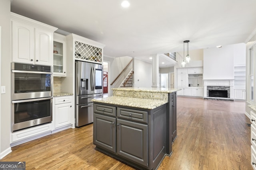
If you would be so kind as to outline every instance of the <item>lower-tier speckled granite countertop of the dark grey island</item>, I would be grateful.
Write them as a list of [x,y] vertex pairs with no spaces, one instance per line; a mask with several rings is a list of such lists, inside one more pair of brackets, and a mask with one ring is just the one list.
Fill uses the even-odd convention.
[[154,109],[156,107],[162,106],[163,104],[167,103],[164,100],[127,98],[127,97],[118,97],[118,96],[110,96],[107,98],[97,98],[97,99],[92,99],[91,101],[105,103],[105,104],[138,107],[138,108],[144,108],[144,109]]

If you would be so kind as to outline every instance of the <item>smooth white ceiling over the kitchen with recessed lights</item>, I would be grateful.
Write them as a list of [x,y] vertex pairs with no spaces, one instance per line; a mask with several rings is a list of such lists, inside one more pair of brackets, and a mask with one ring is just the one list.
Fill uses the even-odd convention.
[[147,62],[183,52],[184,40],[190,50],[244,43],[256,28],[256,0],[128,1],[11,0],[11,11],[103,43],[104,55]]

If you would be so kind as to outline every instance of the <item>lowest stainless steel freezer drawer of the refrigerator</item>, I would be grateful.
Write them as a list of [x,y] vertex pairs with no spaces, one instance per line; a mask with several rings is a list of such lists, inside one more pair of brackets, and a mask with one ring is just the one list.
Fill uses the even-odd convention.
[[76,127],[93,122],[93,103],[76,105]]

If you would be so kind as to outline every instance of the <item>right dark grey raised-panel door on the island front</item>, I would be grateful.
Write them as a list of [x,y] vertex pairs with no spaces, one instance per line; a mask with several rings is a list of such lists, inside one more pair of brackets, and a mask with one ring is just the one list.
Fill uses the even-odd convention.
[[148,167],[148,125],[117,119],[117,154]]

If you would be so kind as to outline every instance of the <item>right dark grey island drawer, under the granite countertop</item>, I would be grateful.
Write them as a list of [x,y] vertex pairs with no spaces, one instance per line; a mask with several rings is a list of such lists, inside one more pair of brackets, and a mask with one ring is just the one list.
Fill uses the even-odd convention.
[[148,123],[147,111],[117,107],[117,116],[120,118],[128,119],[130,121]]

